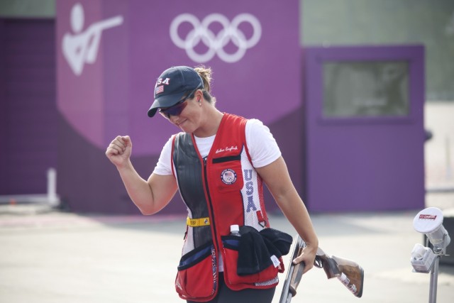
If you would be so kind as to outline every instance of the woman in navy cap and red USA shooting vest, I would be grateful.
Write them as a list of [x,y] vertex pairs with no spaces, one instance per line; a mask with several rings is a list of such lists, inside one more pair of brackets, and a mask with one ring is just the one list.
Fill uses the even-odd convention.
[[[182,299],[271,302],[285,252],[270,244],[283,238],[269,228],[262,182],[306,241],[294,260],[305,263],[305,272],[319,242],[270,130],[256,119],[218,111],[210,82],[211,70],[204,67],[171,67],[157,79],[148,116],[159,111],[182,132],[167,141],[148,180],[134,170],[128,136],[117,136],[106,156],[143,214],[160,211],[179,189],[188,210],[175,281]],[[236,225],[240,238],[230,236]]]

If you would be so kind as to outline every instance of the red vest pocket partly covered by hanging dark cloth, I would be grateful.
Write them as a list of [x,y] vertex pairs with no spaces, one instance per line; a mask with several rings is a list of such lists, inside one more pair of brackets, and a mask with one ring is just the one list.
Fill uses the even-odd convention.
[[277,272],[279,272],[279,266],[270,265],[265,270],[257,272],[252,275],[238,275],[238,248],[239,248],[239,238],[237,236],[223,236],[222,244],[224,250],[224,277],[231,284],[240,284],[240,283],[261,283],[267,282],[277,277]]

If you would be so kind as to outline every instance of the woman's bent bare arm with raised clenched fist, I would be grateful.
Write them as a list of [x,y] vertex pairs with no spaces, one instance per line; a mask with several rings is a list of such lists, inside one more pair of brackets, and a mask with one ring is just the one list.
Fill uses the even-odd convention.
[[144,180],[131,162],[133,144],[129,136],[117,136],[106,150],[106,156],[116,166],[129,197],[142,214],[155,214],[166,206],[177,192],[173,175],[152,174]]

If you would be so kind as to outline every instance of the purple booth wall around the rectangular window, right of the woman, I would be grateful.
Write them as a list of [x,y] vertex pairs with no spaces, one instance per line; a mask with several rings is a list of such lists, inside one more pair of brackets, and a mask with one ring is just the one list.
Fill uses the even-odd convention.
[[[390,211],[423,207],[423,47],[305,48],[304,57],[307,136],[305,192],[310,209]],[[396,115],[374,116],[378,110],[376,108],[372,116],[323,115],[323,101],[327,98],[323,89],[323,64],[326,62],[406,62],[409,67],[409,85],[402,86],[404,89],[401,93],[408,96],[408,113],[399,114],[397,111]],[[395,75],[388,70],[380,77]],[[377,92],[375,97],[383,98],[382,92]],[[397,102],[394,99],[387,100],[394,101],[394,104]],[[341,92],[338,92],[336,101],[341,102]],[[365,101],[364,98],[362,101]],[[369,100],[369,104],[372,101]]]

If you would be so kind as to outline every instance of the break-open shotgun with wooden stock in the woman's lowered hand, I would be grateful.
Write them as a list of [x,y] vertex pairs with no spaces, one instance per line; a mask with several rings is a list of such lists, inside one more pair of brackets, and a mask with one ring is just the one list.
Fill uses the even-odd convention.
[[[297,287],[303,275],[304,263],[295,265],[292,263],[292,260],[297,258],[304,246],[304,241],[297,235],[279,303],[289,303],[292,300],[292,297],[297,294]],[[317,250],[314,265],[317,268],[323,268],[328,279],[337,277],[338,280],[340,280],[342,284],[355,295],[355,297],[360,298],[362,296],[364,270],[360,265],[358,265],[358,263],[335,257],[334,255],[330,257],[323,250],[321,250],[321,248],[319,248]]]

